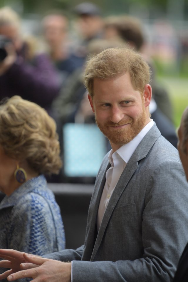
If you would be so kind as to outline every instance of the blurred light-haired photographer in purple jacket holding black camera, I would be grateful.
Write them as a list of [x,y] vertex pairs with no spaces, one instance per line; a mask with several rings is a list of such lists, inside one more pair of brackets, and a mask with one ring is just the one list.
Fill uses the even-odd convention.
[[30,43],[23,39],[16,12],[9,7],[1,8],[0,99],[18,94],[51,113],[60,81],[47,54],[36,54],[33,41]]

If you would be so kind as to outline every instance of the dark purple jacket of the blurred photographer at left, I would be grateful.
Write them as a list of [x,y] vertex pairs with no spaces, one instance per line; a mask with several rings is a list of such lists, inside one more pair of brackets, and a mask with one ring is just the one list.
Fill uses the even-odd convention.
[[0,99],[19,95],[49,112],[60,89],[58,75],[46,54],[28,60],[25,49],[23,46],[16,62],[0,76]]

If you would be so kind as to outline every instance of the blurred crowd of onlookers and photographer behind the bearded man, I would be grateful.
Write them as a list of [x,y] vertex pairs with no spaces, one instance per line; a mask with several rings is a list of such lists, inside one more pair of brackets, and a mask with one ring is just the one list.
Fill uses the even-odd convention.
[[[150,66],[151,118],[177,147],[172,103],[157,81],[142,22],[127,14],[105,18],[100,8],[89,2],[75,6],[73,14],[74,39],[63,11],[50,11],[43,17],[38,27],[42,34],[37,38],[22,34],[21,19],[10,7],[0,9],[0,99],[19,95],[45,108],[56,121],[63,159],[63,126],[95,123],[83,84],[85,62],[106,48],[127,46],[141,53]],[[107,141],[106,151],[109,149]],[[61,171],[48,181],[63,179]]]

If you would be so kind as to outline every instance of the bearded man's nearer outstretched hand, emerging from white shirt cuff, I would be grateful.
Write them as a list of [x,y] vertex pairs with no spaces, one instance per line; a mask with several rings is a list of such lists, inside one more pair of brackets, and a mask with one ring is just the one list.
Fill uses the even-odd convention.
[[[53,259],[44,259],[25,253],[20,254],[20,258],[18,259],[19,262],[22,260],[19,267],[16,268],[18,272],[13,271],[12,269],[12,272],[9,273],[9,276],[7,277],[8,281],[29,277],[33,278],[34,282],[70,282],[71,263],[65,263]],[[4,261],[4,265],[5,264],[6,261]],[[3,278],[0,276],[0,279]]]

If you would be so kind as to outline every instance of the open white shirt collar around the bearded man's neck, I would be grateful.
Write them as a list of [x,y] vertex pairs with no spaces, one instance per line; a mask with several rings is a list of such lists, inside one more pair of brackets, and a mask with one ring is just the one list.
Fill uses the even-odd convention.
[[[116,153],[120,155],[120,157],[124,160],[124,162],[127,162],[130,160],[132,154],[134,153],[136,147],[140,144],[141,140],[144,138],[146,133],[152,128],[154,125],[153,120],[151,119],[150,122],[138,133],[135,138],[133,138],[129,143],[122,145]],[[108,155],[108,160],[113,167],[113,157],[114,151],[111,149]]]

